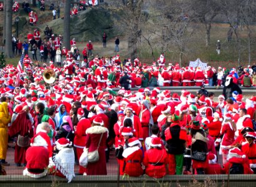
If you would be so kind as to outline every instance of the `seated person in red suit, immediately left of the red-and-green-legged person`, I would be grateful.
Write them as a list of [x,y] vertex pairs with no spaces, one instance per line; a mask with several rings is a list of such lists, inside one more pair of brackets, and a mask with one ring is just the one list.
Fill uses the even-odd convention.
[[161,148],[161,139],[152,138],[150,150],[144,155],[143,165],[146,167],[146,175],[153,178],[163,178],[166,175],[166,165],[168,156],[166,151]]

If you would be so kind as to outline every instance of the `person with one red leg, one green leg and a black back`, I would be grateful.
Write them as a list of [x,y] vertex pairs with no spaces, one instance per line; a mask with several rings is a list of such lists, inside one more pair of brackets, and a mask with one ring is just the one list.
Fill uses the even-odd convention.
[[185,152],[185,142],[187,132],[180,127],[179,117],[172,115],[172,124],[165,130],[165,149],[168,153],[168,170],[170,175],[182,175],[183,154]]

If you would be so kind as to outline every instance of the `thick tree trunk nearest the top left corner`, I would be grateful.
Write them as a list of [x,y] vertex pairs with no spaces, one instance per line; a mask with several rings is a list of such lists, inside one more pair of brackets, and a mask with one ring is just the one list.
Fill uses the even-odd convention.
[[7,0],[6,4],[6,45],[4,52],[6,57],[13,57],[13,43],[12,43],[12,21],[13,21],[13,0]]

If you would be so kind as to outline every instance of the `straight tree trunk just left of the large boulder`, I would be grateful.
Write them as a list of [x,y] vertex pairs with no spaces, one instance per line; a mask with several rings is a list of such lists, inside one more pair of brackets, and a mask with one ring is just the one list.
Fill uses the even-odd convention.
[[71,0],[66,0],[64,4],[64,22],[63,22],[63,37],[64,37],[64,46],[66,49],[70,50],[70,4]]

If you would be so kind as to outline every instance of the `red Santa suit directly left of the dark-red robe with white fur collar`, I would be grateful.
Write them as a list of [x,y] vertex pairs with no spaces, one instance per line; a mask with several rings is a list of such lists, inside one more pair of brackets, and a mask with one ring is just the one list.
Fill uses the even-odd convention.
[[[86,118],[81,118],[76,127],[76,132],[74,133],[74,147],[76,148],[76,155],[78,156],[78,160],[83,153],[83,149],[86,143],[86,130],[91,127],[90,120]],[[83,166],[79,166],[79,173],[83,174],[85,172],[85,168]]]

